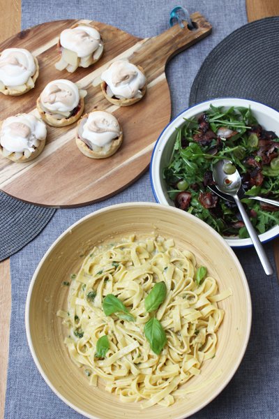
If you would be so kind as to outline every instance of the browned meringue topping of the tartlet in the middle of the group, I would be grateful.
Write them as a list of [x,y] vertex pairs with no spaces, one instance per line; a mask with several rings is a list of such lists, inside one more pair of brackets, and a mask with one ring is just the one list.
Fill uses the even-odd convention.
[[53,80],[43,89],[40,101],[50,112],[67,112],[77,107],[80,92],[77,85],[70,80]]

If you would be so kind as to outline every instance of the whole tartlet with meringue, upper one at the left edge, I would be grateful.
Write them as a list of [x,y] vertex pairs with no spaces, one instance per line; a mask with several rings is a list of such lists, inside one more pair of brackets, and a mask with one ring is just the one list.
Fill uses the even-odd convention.
[[0,91],[20,96],[33,89],[39,75],[38,59],[24,48],[7,48],[0,54]]

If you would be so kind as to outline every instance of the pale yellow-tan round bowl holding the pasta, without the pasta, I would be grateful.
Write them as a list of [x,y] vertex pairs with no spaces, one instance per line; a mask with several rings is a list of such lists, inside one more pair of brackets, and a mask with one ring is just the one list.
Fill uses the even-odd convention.
[[[202,372],[185,384],[193,392],[172,406],[142,410],[140,403],[123,404],[101,386],[89,386],[88,378],[68,356],[61,318],[68,287],[62,286],[77,272],[94,244],[126,237],[131,233],[150,235],[156,231],[173,237],[176,246],[195,253],[218,281],[219,290],[232,288],[233,295],[219,303],[225,309],[218,330],[216,357],[204,362]],[[181,210],[151,203],[128,203],[107,207],[84,217],[68,228],[47,251],[33,275],[26,307],[27,338],[33,359],[50,388],[63,402],[87,418],[182,419],[216,397],[236,372],[250,334],[251,302],[245,274],[225,240],[206,223]],[[200,388],[202,385],[202,388]],[[198,391],[194,391],[199,386]]]

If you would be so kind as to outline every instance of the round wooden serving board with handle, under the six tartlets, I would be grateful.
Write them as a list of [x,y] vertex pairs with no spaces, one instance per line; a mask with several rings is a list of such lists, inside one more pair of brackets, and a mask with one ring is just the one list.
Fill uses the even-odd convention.
[[[51,80],[66,78],[87,90],[84,112],[113,112],[123,128],[123,144],[108,159],[89,159],[75,145],[76,124],[63,128],[47,126],[47,143],[37,159],[13,163],[0,159],[0,188],[10,196],[29,203],[52,207],[76,207],[108,198],[135,181],[149,166],[154,142],[169,122],[171,103],[165,78],[167,61],[211,32],[211,25],[199,13],[191,19],[196,29],[179,24],[153,38],[135,38],[120,29],[89,20],[60,20],[40,24],[20,32],[0,44],[26,48],[39,61],[36,87],[22,96],[1,95],[0,120],[19,112],[36,111],[36,99]],[[94,66],[78,68],[75,73],[58,71],[56,43],[63,29],[75,22],[97,27],[103,38],[103,57]],[[146,96],[125,108],[109,103],[98,85],[101,73],[115,59],[127,58],[144,68]],[[97,85],[93,86],[92,83]]]

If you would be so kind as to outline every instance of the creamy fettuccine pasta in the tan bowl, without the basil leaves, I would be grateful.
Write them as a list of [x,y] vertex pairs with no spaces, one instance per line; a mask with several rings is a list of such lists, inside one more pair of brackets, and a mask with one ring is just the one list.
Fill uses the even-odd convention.
[[[101,379],[121,402],[142,401],[143,408],[169,406],[185,395],[181,385],[216,353],[216,332],[224,316],[217,302],[232,293],[218,293],[216,279],[207,274],[198,281],[197,268],[193,253],[176,249],[172,239],[163,237],[131,236],[95,247],[86,256],[70,284],[68,311],[57,314],[68,327],[70,358],[84,368],[91,385]],[[159,282],[165,284],[165,300],[148,312],[144,301]],[[117,313],[106,316],[107,295],[117,297],[133,321]],[[153,317],[166,338],[159,354],[144,329]],[[107,352],[96,358],[98,339],[105,335]]]

